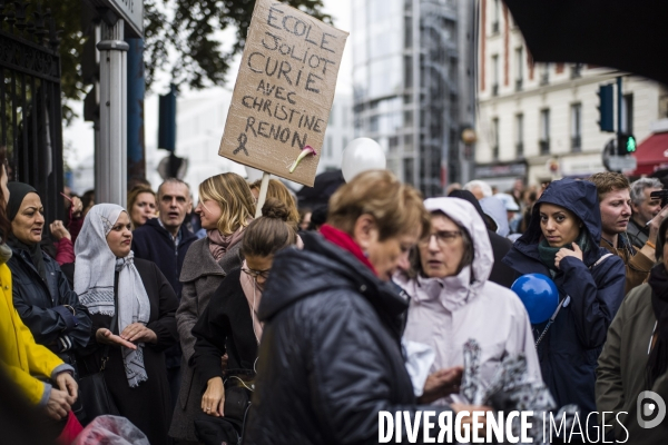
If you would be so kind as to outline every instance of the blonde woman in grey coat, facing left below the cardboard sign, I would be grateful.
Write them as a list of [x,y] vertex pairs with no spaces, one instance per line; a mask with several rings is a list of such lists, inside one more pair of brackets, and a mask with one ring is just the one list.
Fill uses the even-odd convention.
[[[180,281],[181,301],[176,323],[184,353],[181,384],[169,435],[179,443],[197,443],[195,415],[202,411],[203,383],[188,366],[195,352],[193,327],[226,276],[242,266],[242,238],[253,220],[255,204],[248,185],[239,175],[212,176],[199,185],[199,204],[195,211],[206,229],[206,237],[190,246]],[[220,365],[220,359],[218,359]]]

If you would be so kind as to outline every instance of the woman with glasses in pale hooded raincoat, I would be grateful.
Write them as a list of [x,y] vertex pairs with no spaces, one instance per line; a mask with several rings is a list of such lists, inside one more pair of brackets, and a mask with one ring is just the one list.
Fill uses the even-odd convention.
[[[430,346],[430,373],[464,364],[464,344],[480,345],[480,378],[490,383],[505,357],[524,354],[529,375],[540,380],[531,324],[522,301],[489,280],[494,264],[484,221],[459,198],[424,201],[431,231],[411,253],[411,267],[394,280],[411,296],[404,338]],[[442,397],[440,402],[445,402]],[[451,402],[461,402],[456,394]]]

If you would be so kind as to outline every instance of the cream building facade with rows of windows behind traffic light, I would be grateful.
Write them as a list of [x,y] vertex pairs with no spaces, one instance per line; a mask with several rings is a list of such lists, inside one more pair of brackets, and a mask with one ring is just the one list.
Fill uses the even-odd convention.
[[533,63],[501,0],[481,0],[479,18],[477,178],[505,190],[515,178],[533,185],[603,171],[602,149],[615,135],[599,129],[598,90],[619,76],[622,131],[641,141],[665,116],[657,82],[587,65]]

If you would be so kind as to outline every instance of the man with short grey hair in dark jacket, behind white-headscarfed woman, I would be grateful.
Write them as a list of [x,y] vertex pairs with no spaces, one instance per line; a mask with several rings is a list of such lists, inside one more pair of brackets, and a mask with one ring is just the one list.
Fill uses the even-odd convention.
[[[190,211],[190,188],[179,179],[169,178],[158,187],[159,216],[146,221],[132,233],[135,257],[154,261],[165,275],[180,301],[178,280],[188,248],[197,237],[184,220]],[[171,404],[176,404],[180,384],[181,352],[178,345],[165,352]]]

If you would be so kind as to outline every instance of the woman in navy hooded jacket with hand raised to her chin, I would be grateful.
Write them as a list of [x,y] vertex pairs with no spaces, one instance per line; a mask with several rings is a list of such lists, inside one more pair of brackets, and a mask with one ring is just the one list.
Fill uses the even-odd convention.
[[[597,359],[623,299],[622,260],[599,247],[601,214],[592,182],[550,182],[531,222],[503,263],[518,274],[542,274],[559,289],[559,309],[533,325],[542,377],[557,406],[576,404],[580,418],[596,411]],[[590,434],[596,422],[588,422]]]

